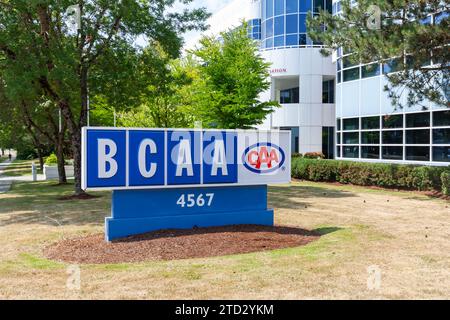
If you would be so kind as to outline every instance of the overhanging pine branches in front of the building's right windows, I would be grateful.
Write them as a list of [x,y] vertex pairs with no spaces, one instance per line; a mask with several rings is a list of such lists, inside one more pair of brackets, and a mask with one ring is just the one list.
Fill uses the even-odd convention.
[[[351,52],[353,62],[384,62],[392,104],[449,107],[449,3],[440,0],[342,0],[342,13],[308,18],[309,35],[331,50]],[[325,28],[324,28],[325,26]],[[406,99],[402,96],[406,95]],[[406,100],[402,102],[402,100]]]

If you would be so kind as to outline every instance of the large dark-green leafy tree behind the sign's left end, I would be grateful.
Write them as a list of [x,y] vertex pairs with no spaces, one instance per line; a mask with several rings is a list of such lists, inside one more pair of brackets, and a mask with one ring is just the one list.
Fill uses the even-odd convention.
[[[183,1],[189,3],[190,0]],[[204,29],[204,9],[169,13],[175,0],[0,0],[0,51],[5,81],[14,91],[39,86],[61,110],[74,158],[75,194],[81,190],[81,128],[87,124],[89,94],[111,101],[127,99],[139,49],[138,38],[157,41],[172,57],[179,54],[180,33]],[[70,32],[65,21],[78,5],[80,26]],[[116,71],[112,76],[112,71]],[[109,75],[106,77],[105,75]],[[108,94],[111,85],[116,94]],[[119,86],[119,87],[118,87]],[[120,86],[124,86],[122,90]],[[118,99],[120,98],[120,99]],[[133,99],[133,97],[129,97]]]

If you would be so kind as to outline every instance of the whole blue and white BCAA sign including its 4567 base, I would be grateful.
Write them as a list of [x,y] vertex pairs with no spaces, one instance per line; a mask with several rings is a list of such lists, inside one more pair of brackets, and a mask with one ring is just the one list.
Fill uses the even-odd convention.
[[82,186],[113,190],[108,241],[167,228],[273,224],[290,132],[83,128]]

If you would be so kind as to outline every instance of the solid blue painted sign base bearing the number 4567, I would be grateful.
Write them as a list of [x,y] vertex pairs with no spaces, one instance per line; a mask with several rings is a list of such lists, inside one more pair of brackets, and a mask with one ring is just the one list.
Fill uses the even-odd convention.
[[113,191],[105,236],[112,241],[161,229],[273,223],[265,185]]

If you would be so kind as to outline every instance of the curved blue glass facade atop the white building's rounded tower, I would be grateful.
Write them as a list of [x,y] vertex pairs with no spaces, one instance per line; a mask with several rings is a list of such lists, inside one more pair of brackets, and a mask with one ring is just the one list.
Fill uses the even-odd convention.
[[307,36],[306,17],[331,8],[331,0],[262,0],[261,47],[321,45]]

